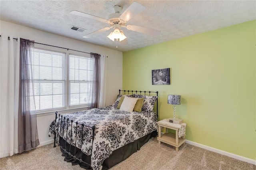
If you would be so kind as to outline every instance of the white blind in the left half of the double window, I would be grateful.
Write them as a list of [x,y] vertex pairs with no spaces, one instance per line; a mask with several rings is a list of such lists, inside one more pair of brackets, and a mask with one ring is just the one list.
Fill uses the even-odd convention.
[[36,111],[65,107],[65,57],[65,53],[34,49],[32,55],[34,87],[31,88],[34,89]]

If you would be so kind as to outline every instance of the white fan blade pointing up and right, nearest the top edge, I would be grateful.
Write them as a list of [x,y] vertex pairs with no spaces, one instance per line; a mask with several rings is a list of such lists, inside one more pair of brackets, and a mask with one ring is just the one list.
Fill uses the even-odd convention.
[[138,2],[133,2],[119,17],[120,20],[129,21],[132,17],[136,16],[146,8]]

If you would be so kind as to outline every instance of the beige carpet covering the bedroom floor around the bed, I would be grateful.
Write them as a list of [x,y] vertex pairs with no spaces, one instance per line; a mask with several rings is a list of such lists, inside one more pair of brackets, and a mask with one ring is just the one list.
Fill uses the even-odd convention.
[[[58,147],[48,144],[30,152],[0,159],[1,170],[81,170],[65,162]],[[167,144],[149,140],[138,152],[111,170],[256,170],[255,165],[190,144],[178,152]]]

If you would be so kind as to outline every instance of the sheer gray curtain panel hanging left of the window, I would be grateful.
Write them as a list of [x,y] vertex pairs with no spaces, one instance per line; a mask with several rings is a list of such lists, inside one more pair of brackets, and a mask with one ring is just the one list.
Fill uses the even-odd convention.
[[34,41],[20,38],[19,153],[39,145],[31,61],[33,50]]

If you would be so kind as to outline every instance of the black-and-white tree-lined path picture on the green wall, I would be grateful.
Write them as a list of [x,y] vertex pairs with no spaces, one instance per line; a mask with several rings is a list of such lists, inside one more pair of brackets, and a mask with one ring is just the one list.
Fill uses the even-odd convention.
[[170,68],[152,70],[152,85],[170,85]]

